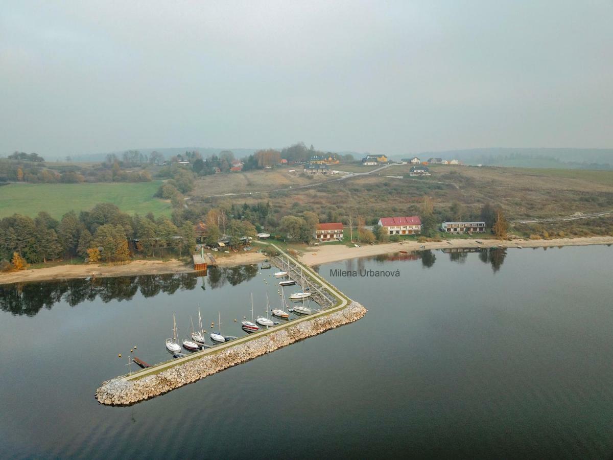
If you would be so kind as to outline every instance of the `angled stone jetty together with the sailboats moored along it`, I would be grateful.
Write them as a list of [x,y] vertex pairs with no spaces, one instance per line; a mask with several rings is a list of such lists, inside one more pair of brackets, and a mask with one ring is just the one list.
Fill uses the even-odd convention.
[[[259,317],[258,322],[265,324],[265,329],[260,330],[259,326],[254,322],[253,310],[253,293],[251,294],[251,316],[252,321],[242,321],[242,329],[248,335],[244,337],[233,337],[222,334],[221,332],[221,311],[218,311],[218,322],[212,323],[211,326],[216,326],[217,331],[211,332],[211,342],[217,343],[216,347],[205,348],[201,351],[196,351],[200,347],[191,341],[184,341],[183,348],[189,351],[194,351],[187,356],[176,357],[178,347],[177,344],[177,324],[175,315],[173,314],[173,338],[166,339],[166,348],[170,353],[173,353],[175,359],[162,362],[154,366],[147,367],[141,371],[122,375],[112,380],[105,381],[101,387],[96,390],[96,399],[101,404],[109,405],[130,405],[135,402],[149,399],[159,394],[164,394],[174,388],[192,383],[207,375],[219,372],[226,367],[234,366],[248,359],[253,359],[264,353],[269,353],[276,348],[284,347],[296,340],[310,337],[311,335],[321,334],[330,328],[336,328],[342,324],[356,321],[365,315],[366,309],[357,302],[351,301],[348,297],[337,291],[326,280],[308,267],[302,266],[296,259],[284,254],[278,247],[281,256],[275,261],[286,267],[287,271],[275,273],[276,278],[281,276],[299,275],[299,282],[304,289],[313,289],[321,295],[322,299],[327,299],[329,308],[319,309],[313,313],[310,307],[302,305],[294,305],[291,310],[302,316],[292,321],[274,324],[268,318]],[[281,275],[283,274],[283,275]],[[307,287],[305,287],[307,286]],[[284,302],[283,287],[281,289],[281,298]],[[327,294],[324,294],[326,291]],[[301,296],[302,301],[310,297]],[[333,301],[332,299],[335,299]],[[267,300],[266,311],[270,304]],[[283,313],[281,313],[283,314]],[[272,326],[271,326],[272,324]],[[300,325],[302,327],[300,327]],[[193,329],[193,326],[192,326]],[[195,332],[192,331],[192,334]],[[232,343],[226,343],[232,340]],[[219,355],[220,350],[226,350],[224,355]],[[229,359],[220,359],[219,356],[232,356]],[[138,381],[138,383],[136,383]]]

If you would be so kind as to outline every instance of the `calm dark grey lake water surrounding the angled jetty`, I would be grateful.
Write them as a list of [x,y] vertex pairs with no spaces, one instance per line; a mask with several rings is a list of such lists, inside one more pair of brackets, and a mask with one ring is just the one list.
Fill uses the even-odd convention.
[[4,286],[0,457],[609,458],[612,256],[594,246],[327,264],[319,272],[368,308],[362,320],[125,408],[94,399],[128,369],[118,353],[168,359],[172,313],[183,338],[198,304],[208,331],[221,310],[222,331],[243,335],[252,292],[256,315],[265,293],[278,304],[271,270]]

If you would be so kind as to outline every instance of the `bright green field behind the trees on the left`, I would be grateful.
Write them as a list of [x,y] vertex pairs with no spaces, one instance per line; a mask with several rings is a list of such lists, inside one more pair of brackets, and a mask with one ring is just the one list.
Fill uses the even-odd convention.
[[0,217],[20,213],[31,217],[47,211],[59,219],[70,210],[89,210],[113,203],[129,214],[170,215],[170,202],[154,198],[159,181],[137,183],[10,183],[0,186]]

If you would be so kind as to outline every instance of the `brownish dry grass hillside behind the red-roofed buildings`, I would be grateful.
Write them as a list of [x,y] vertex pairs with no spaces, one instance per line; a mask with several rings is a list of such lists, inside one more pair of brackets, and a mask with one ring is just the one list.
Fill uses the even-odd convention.
[[[613,171],[436,165],[430,167],[431,177],[386,177],[406,174],[410,168],[410,165],[392,166],[381,171],[381,175],[376,173],[322,183],[313,188],[222,199],[237,204],[270,201],[272,215],[278,220],[283,215],[298,215],[308,210],[317,213],[321,221],[347,223],[349,215],[361,215],[367,224],[376,223],[379,217],[386,215],[419,214],[425,195],[432,197],[435,213],[441,220],[454,219],[451,212],[454,203],[462,205],[462,219],[478,218],[485,203],[500,205],[509,220],[554,218],[613,209]],[[310,181],[302,177],[290,180],[284,170],[247,174],[250,184],[240,175],[230,177],[234,181],[231,184],[227,175],[212,177],[208,184],[212,186],[212,181],[219,181],[221,190],[248,192]],[[239,180],[243,182],[237,185]],[[209,205],[222,199],[210,199]],[[585,234],[590,227],[596,230],[596,226],[598,231],[592,234],[608,232],[611,224],[605,218],[589,225],[584,221],[555,224],[557,231],[568,229],[570,234],[573,234],[573,227],[578,234]]]

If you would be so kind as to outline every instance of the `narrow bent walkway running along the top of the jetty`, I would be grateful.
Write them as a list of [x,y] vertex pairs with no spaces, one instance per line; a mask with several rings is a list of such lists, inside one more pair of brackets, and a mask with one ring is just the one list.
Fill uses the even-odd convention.
[[253,334],[245,335],[245,337],[240,337],[240,339],[230,340],[230,342],[224,342],[224,343],[221,343],[220,345],[215,345],[215,347],[206,348],[205,350],[202,350],[202,351],[196,351],[195,353],[191,353],[190,355],[185,356],[184,358],[172,359],[172,361],[161,362],[160,364],[155,364],[154,366],[147,367],[147,369],[137,370],[131,375],[124,375],[123,378],[125,380],[134,380],[135,378],[142,378],[142,377],[145,377],[146,375],[157,374],[161,370],[169,369],[170,367],[174,367],[174,366],[178,366],[182,364],[183,362],[191,361],[192,359],[202,358],[202,356],[208,355],[210,353],[218,353],[218,351],[224,350],[226,348],[234,347],[234,345],[238,345],[239,343],[244,343],[244,342],[248,342],[249,340],[257,339],[257,337],[262,337],[262,335],[270,334],[270,332],[279,331],[280,329],[284,329],[289,326],[295,326],[295,324],[302,323],[302,321],[312,320],[313,318],[316,318],[318,316],[329,315],[331,312],[336,312],[337,310],[340,310],[346,307],[346,305],[349,303],[349,298],[346,297],[345,294],[340,293],[340,291],[338,291],[337,288],[335,288],[330,283],[328,283],[326,280],[324,280],[324,278],[322,278],[321,275],[319,275],[317,272],[315,272],[310,267],[307,267],[304,264],[300,263],[299,261],[297,261],[292,256],[288,255],[287,253],[284,253],[281,250],[281,248],[279,248],[275,244],[271,244],[271,246],[275,248],[276,250],[278,250],[281,253],[281,255],[283,255],[285,258],[289,258],[289,260],[292,261],[292,263],[296,264],[297,266],[302,267],[302,269],[306,273],[308,273],[311,277],[318,279],[322,283],[322,286],[328,289],[328,291],[330,291],[330,293],[333,296],[337,297],[337,299],[340,301],[340,304],[337,305],[336,307],[332,307],[327,310],[321,310],[321,312],[312,313],[311,315],[303,316],[302,318],[298,318],[296,320],[287,321],[287,323],[279,324],[278,326],[272,326],[268,329],[264,329],[264,331],[261,331],[261,332],[254,332]]

